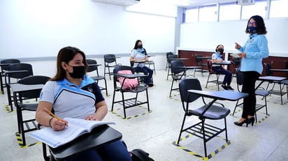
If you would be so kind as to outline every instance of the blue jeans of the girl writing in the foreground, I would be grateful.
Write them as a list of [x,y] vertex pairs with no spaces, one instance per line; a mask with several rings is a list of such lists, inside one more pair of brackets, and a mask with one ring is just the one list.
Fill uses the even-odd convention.
[[124,146],[122,141],[117,140],[110,144],[101,146],[97,148],[85,151],[78,155],[75,155],[69,158],[66,161],[76,161],[76,160],[85,160],[85,161],[102,161],[102,160],[120,160],[120,161],[131,161],[131,156],[127,151],[127,148]]

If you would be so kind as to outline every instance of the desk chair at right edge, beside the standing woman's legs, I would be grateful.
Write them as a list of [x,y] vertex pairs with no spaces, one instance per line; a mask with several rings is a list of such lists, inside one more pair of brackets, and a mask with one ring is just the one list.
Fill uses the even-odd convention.
[[261,84],[263,84],[264,82],[275,82],[278,83],[280,85],[280,91],[276,91],[276,90],[270,90],[271,94],[275,94],[275,95],[280,95],[281,98],[281,105],[283,105],[283,100],[282,100],[282,95],[285,95],[287,93],[287,91],[282,91],[282,87],[281,87],[281,81],[285,80],[286,77],[275,77],[275,76],[265,76],[265,77],[259,77],[258,80],[260,80],[260,84],[257,86],[256,89],[259,88],[259,86],[261,86]]

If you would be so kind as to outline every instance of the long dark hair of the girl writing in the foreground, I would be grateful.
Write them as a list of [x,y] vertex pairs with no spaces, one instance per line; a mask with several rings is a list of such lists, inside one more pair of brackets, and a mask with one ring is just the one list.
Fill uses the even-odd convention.
[[84,52],[82,52],[80,49],[78,49],[76,47],[63,47],[58,52],[57,73],[51,79],[52,81],[62,80],[66,77],[66,70],[64,70],[64,68],[62,68],[61,63],[62,62],[69,63],[69,61],[71,61],[76,54],[81,54],[83,56],[83,63],[85,65],[85,70],[87,71],[88,64],[87,64],[86,56],[85,56]]

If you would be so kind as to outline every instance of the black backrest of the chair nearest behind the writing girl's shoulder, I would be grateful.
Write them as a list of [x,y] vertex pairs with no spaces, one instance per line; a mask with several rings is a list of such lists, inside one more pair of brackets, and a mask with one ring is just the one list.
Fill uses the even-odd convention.
[[[33,84],[45,84],[48,82],[50,77],[44,76],[44,75],[33,75],[29,77],[24,77],[20,79],[17,83],[18,84],[27,84],[27,85],[33,85]],[[21,93],[22,98],[38,98],[40,96],[41,89],[34,90],[34,91],[26,91]]]

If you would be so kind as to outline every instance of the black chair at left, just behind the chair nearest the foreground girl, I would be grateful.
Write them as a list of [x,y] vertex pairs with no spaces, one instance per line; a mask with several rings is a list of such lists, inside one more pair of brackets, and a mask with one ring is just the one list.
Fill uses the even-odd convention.
[[[33,75],[33,68],[32,65],[29,63],[13,63],[10,66],[7,66],[6,70],[8,71],[15,71],[15,70],[26,70],[25,72],[11,72],[5,73],[5,84],[6,84],[6,89],[7,89],[7,93],[8,93],[8,104],[11,107],[11,111],[13,111],[13,97],[10,93],[10,86],[9,84],[11,83],[15,83],[15,82],[11,82],[11,78],[15,79],[16,81],[24,78],[24,77],[28,77]],[[7,80],[8,79],[8,80]]]

